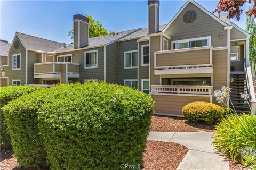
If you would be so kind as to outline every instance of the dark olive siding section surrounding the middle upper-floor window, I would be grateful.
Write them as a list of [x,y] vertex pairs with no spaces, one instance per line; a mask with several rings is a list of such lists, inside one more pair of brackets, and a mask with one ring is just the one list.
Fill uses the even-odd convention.
[[136,40],[119,42],[118,58],[118,82],[124,84],[124,79],[137,79],[137,69],[124,69],[124,52],[137,50],[138,43]]

